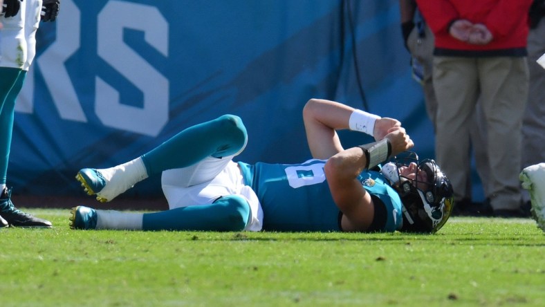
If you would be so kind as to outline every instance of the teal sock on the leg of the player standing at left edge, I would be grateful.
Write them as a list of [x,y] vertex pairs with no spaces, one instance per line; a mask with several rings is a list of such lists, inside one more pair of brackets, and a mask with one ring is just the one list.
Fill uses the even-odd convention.
[[26,71],[0,68],[0,185],[6,184],[10,158],[15,99],[23,88]]

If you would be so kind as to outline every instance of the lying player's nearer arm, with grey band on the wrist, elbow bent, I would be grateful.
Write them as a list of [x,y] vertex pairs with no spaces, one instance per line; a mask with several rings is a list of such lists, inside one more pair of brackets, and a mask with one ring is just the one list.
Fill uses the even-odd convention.
[[324,171],[333,201],[343,213],[342,230],[365,231],[373,222],[373,200],[358,180],[360,173],[413,146],[405,129],[396,127],[384,140],[352,147],[329,158]]

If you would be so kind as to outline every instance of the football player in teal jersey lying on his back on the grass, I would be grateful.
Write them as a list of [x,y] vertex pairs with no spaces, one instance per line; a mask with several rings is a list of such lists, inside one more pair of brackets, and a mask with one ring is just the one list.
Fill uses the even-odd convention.
[[[391,156],[414,146],[398,120],[329,100],[303,110],[312,159],[300,164],[233,162],[248,140],[235,115],[173,136],[139,158],[76,178],[99,201],[111,201],[162,173],[169,210],[154,213],[71,210],[77,230],[436,232],[452,211],[449,180],[433,160]],[[343,149],[336,130],[377,141]]]

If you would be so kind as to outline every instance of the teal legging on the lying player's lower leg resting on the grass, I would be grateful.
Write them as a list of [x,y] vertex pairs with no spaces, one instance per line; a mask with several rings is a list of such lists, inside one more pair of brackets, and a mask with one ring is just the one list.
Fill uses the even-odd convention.
[[230,195],[210,205],[146,213],[142,219],[142,230],[241,231],[250,221],[251,214],[246,199]]

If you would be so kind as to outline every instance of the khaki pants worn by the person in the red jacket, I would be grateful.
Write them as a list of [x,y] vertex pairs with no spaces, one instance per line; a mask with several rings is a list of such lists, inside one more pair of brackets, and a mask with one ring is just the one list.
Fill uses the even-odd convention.
[[[434,57],[437,97],[436,158],[454,187],[455,197],[468,186],[463,169],[470,153],[470,129],[479,100],[485,127],[490,204],[515,210],[521,201],[518,174],[521,124],[528,97],[525,57]],[[481,178],[483,179],[483,178]]]

